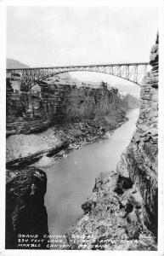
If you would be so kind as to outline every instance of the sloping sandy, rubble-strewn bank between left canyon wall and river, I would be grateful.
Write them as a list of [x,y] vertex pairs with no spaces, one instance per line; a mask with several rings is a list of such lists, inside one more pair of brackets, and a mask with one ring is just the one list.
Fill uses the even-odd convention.
[[6,160],[26,157],[42,150],[48,150],[67,141],[69,148],[79,148],[85,143],[93,143],[105,136],[107,131],[113,131],[127,118],[121,115],[117,120],[111,121],[108,116],[78,123],[56,125],[47,131],[30,135],[13,135],[7,138]]

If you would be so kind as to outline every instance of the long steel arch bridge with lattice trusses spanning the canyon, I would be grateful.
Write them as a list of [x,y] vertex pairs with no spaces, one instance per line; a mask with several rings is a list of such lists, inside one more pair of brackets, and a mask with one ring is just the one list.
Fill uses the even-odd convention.
[[28,91],[35,84],[39,84],[45,79],[58,75],[59,73],[68,73],[75,71],[87,71],[106,73],[118,78],[126,79],[134,84],[142,85],[142,80],[147,73],[149,62],[140,63],[121,63],[121,64],[105,64],[105,65],[82,65],[82,66],[65,66],[65,67],[33,67],[33,68],[14,68],[7,69],[10,73],[10,79],[15,73],[20,74],[20,90]]

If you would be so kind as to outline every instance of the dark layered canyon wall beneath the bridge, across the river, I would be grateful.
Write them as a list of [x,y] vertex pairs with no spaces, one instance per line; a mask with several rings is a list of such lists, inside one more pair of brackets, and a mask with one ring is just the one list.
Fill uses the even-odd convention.
[[14,92],[7,80],[7,135],[29,134],[51,125],[93,119],[107,113],[114,119],[116,113],[125,116],[127,105],[117,89],[46,83],[40,87],[37,92]]

